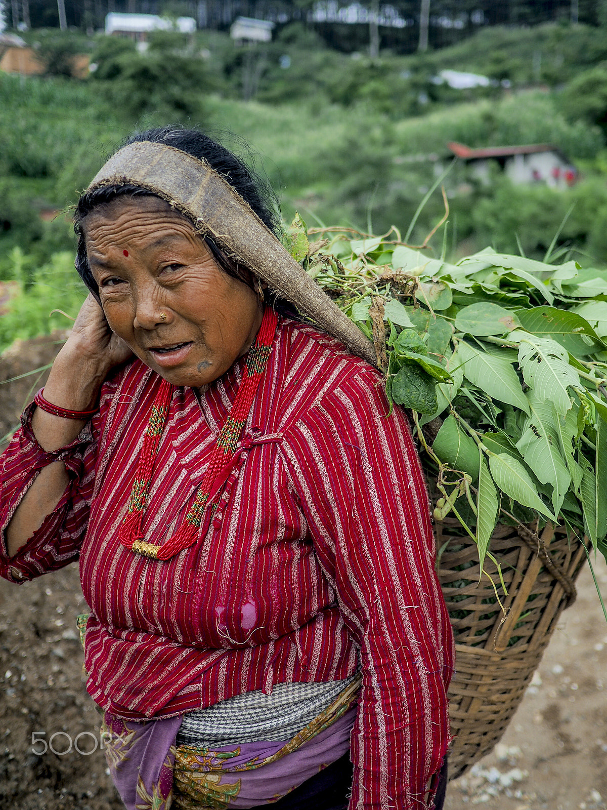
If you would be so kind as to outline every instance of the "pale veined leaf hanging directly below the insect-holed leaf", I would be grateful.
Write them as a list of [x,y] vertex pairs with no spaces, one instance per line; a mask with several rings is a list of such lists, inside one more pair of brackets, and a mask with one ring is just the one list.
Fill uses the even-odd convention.
[[516,442],[516,449],[536,478],[542,484],[552,486],[552,506],[554,514],[558,514],[571,484],[571,475],[562,457],[553,408],[550,403],[538,400],[533,391],[528,392],[527,399],[531,416],[528,417],[523,435]]

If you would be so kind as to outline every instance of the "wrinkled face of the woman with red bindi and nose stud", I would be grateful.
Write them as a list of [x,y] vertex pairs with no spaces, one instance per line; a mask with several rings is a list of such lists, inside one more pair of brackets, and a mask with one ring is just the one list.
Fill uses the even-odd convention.
[[118,198],[83,222],[113,332],[176,386],[204,386],[248,351],[263,313],[184,216],[158,197]]

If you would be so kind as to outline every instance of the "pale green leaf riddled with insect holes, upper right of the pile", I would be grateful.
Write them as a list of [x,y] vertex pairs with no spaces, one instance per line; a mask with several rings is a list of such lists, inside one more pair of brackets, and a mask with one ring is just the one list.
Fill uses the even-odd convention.
[[554,340],[520,336],[519,363],[524,382],[535,390],[537,399],[554,403],[564,416],[571,407],[568,386],[579,387],[579,374],[569,364],[567,351]]

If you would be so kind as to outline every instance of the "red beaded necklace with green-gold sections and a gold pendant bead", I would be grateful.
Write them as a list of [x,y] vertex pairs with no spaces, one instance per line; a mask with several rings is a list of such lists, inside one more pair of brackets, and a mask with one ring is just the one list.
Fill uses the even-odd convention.
[[[139,455],[137,471],[130,491],[129,509],[119,532],[121,543],[127,548],[132,548],[134,552],[139,554],[154,557],[156,560],[168,560],[169,557],[175,556],[184,548],[196,543],[205,506],[210,503],[210,500],[213,500],[212,498],[209,500],[209,496],[214,489],[215,482],[219,479],[223,469],[236,450],[248,413],[253,406],[261,376],[265,371],[265,366],[272,351],[272,340],[274,339],[277,322],[278,316],[274,309],[266,307],[257,337],[248,352],[243,379],[236,393],[230,416],[227,417],[223,428],[219,432],[217,444],[214,446],[209,467],[197,492],[196,500],[193,502],[188,514],[185,515],[185,520],[176,533],[163,545],[156,546],[143,540],[142,518],[154,474],[156,453],[167,421],[168,407],[172,398],[171,383],[166,380],[160,383],[158,394],[156,394],[151,407],[146,433],[143,437],[142,451]],[[215,494],[217,493],[214,492]]]

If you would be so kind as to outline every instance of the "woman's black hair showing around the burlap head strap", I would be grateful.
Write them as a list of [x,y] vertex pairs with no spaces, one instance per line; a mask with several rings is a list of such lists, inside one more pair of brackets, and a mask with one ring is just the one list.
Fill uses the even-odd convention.
[[[276,211],[278,211],[278,201],[269,183],[254,173],[253,170],[248,168],[244,163],[244,160],[234,155],[221,143],[210,138],[201,130],[187,130],[184,127],[172,125],[154,130],[135,132],[121,143],[121,147],[139,141],[164,143],[167,146],[186,152],[188,155],[197,157],[199,160],[206,160],[211,168],[214,168],[216,172],[221,174],[224,180],[248,203],[261,222],[270,228],[270,231],[276,236],[279,235],[280,225],[276,213]],[[78,249],[74,265],[80,278],[83,279],[87,288],[98,301],[99,288],[93,278],[91,267],[88,263],[87,247],[84,241],[83,220],[96,208],[112,203],[113,200],[117,198],[144,196],[154,197],[155,194],[138,185],[126,184],[104,185],[94,191],[85,191],[79,198],[74,211],[74,231],[78,236]],[[254,279],[248,268],[227,256],[210,237],[202,237],[202,241],[204,241],[206,247],[210,250],[215,262],[217,262],[219,267],[227,275],[231,275],[233,278],[239,279],[247,284],[248,287],[255,289],[253,286]],[[293,306],[287,301],[277,299],[273,293],[268,291],[266,291],[264,295],[265,300],[274,305],[274,307],[277,307],[285,313],[291,315],[295,314]]]

